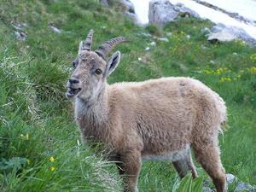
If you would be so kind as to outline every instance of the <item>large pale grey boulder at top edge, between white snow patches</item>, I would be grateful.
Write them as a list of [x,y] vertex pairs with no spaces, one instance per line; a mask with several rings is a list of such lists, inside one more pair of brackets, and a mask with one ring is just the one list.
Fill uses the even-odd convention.
[[173,5],[168,0],[151,0],[149,2],[149,23],[165,26],[166,23],[177,19],[180,14],[199,17],[195,11],[184,7],[182,3]]

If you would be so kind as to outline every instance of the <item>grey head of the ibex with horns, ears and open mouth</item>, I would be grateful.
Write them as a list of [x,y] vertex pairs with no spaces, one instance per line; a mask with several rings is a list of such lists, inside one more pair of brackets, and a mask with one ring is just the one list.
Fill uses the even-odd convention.
[[90,30],[85,41],[81,41],[79,44],[79,55],[73,61],[74,71],[67,81],[66,96],[68,98],[78,96],[88,100],[95,97],[102,90],[108,76],[119,64],[119,51],[116,51],[108,61],[107,56],[114,45],[125,42],[125,38],[112,38],[92,51],[92,36],[93,30]]

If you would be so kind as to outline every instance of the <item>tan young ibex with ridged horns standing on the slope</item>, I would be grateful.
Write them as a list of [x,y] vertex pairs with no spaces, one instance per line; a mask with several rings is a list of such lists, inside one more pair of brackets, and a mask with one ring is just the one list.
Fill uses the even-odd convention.
[[120,60],[113,38],[91,50],[93,31],[79,44],[67,97],[75,96],[75,118],[83,140],[105,143],[125,174],[125,191],[137,191],[142,160],[169,160],[180,177],[197,177],[190,148],[212,177],[218,192],[225,191],[225,174],[218,148],[218,132],[226,120],[222,98],[200,81],[161,78],[109,85],[108,76]]

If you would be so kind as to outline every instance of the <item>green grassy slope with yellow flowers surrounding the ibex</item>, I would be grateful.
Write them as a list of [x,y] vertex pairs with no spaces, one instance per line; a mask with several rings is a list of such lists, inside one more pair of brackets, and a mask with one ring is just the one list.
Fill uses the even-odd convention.
[[[229,108],[230,128],[220,137],[224,167],[256,184],[255,49],[241,42],[209,44],[201,29],[212,24],[205,20],[181,19],[163,31],[143,29],[119,14],[120,8],[104,9],[96,0],[0,3],[1,191],[119,191],[114,167],[78,143],[73,108],[64,96],[70,61],[90,28],[96,32],[94,48],[119,35],[131,39],[119,46],[122,61],[109,83],[190,76],[216,90]],[[26,22],[25,42],[15,40],[11,21]],[[49,23],[63,32],[51,32]],[[142,32],[172,36],[167,43]],[[156,46],[145,52],[153,40]],[[176,178],[170,164],[147,162],[140,189],[170,191]]]

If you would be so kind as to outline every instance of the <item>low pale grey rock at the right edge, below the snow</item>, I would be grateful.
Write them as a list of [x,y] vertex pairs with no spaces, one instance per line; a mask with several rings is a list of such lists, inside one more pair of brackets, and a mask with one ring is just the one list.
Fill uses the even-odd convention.
[[210,42],[225,42],[235,39],[241,39],[247,44],[256,46],[256,40],[249,36],[247,32],[245,32],[243,29],[236,26],[224,26],[223,24],[213,26],[211,32],[208,34],[207,39]]

